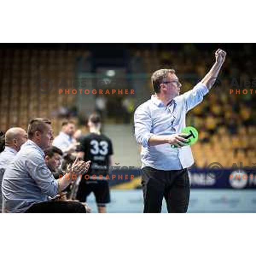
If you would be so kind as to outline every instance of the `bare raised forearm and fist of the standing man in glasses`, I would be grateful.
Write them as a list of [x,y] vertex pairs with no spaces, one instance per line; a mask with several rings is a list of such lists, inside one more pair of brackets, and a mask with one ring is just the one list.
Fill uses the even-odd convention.
[[225,61],[226,52],[224,50],[218,49],[215,52],[215,63],[213,64],[211,70],[206,74],[206,76],[201,80],[202,84],[205,84],[209,89],[211,89],[212,85],[215,83],[218,73],[221,70],[221,67]]

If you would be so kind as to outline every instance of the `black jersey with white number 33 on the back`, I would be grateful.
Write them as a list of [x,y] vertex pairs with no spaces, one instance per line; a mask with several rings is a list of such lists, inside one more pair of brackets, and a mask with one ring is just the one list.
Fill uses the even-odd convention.
[[109,156],[113,154],[111,140],[103,134],[90,133],[79,139],[79,151],[84,152],[84,161],[90,160],[88,175],[108,174]]

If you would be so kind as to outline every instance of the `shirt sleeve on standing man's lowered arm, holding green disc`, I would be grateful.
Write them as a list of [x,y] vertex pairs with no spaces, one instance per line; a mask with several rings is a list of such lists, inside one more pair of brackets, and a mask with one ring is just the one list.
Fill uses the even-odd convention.
[[143,147],[148,147],[148,140],[153,135],[151,131],[152,120],[148,108],[141,105],[134,113],[134,133],[136,140]]

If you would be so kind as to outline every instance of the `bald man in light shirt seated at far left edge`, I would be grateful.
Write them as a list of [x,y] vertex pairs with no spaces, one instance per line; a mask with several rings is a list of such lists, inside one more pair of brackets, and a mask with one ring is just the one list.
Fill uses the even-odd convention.
[[10,128],[5,134],[5,149],[0,153],[0,212],[2,209],[2,179],[6,166],[13,160],[20,147],[28,139],[25,130],[19,127]]

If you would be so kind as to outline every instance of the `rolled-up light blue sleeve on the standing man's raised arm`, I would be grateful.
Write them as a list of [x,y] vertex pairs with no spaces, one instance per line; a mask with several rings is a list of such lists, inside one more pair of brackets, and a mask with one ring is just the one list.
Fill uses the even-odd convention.
[[186,112],[201,103],[208,92],[209,90],[205,84],[198,83],[192,90],[182,94],[185,100]]

